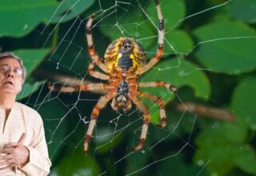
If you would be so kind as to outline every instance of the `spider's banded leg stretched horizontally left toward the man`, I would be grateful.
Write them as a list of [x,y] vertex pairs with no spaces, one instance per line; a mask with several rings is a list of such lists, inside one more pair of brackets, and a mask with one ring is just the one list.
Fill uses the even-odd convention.
[[55,86],[49,82],[48,88],[54,92],[64,93],[79,92],[85,90],[108,90],[108,86],[103,83],[89,83],[78,86]]

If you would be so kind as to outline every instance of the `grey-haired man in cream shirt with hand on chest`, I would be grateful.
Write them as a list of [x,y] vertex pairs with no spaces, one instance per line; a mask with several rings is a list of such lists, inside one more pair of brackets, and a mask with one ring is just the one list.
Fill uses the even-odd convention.
[[41,116],[15,102],[26,69],[11,53],[0,54],[0,175],[47,175],[50,159]]

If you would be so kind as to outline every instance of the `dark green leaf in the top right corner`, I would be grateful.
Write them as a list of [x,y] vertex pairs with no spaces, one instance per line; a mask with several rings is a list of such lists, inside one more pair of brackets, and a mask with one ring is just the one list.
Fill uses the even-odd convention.
[[256,22],[256,1],[254,0],[233,0],[228,6],[227,12],[234,18],[242,21]]

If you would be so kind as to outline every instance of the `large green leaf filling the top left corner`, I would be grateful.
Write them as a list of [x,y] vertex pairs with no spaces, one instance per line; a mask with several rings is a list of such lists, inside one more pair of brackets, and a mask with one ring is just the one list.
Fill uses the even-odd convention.
[[57,7],[54,0],[2,0],[0,37],[22,37],[39,23],[50,18]]

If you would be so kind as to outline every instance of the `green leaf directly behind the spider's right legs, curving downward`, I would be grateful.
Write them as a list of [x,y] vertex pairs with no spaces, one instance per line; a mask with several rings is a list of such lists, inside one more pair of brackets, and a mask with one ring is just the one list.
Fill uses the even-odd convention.
[[[142,75],[140,82],[164,81],[174,86],[191,86],[198,98],[210,95],[210,82],[198,66],[181,58],[167,58]],[[154,88],[155,89],[155,88]],[[159,92],[159,91],[157,91]]]

